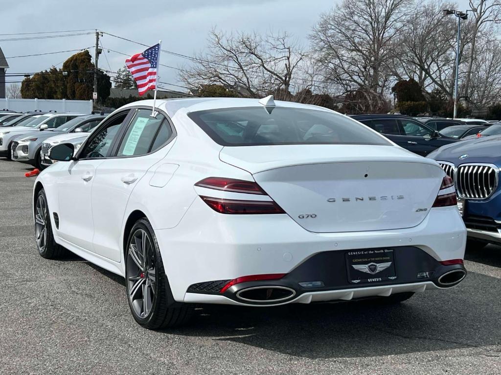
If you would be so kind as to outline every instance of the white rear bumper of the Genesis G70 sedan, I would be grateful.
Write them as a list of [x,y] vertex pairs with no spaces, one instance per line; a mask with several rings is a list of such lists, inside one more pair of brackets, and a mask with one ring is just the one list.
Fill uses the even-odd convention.
[[[271,273],[292,275],[295,269],[300,269],[302,264],[307,264],[309,259],[319,255],[320,258],[329,256],[324,262],[320,261],[318,266],[309,267],[313,273],[309,274],[308,278],[316,275],[315,278],[304,279],[305,275],[301,280],[299,276],[291,279],[291,282],[294,282],[296,296],[286,303],[305,301],[310,294],[312,298],[313,295],[315,298],[324,295],[327,299],[336,299],[328,296],[341,295],[346,290],[353,291],[352,298],[356,298],[358,290],[365,290],[368,287],[367,290],[374,290],[375,293],[370,295],[388,293],[389,288],[393,288],[391,293],[396,290],[408,291],[399,289],[396,286],[399,284],[408,284],[405,287],[410,288],[418,288],[425,284],[428,285],[426,288],[433,288],[435,285],[433,276],[429,279],[416,279],[418,265],[421,264],[423,267],[418,270],[419,272],[438,272],[440,269],[437,269],[437,264],[440,264],[440,260],[464,257],[466,243],[464,223],[455,206],[431,209],[426,218],[412,228],[313,233],[302,228],[286,214],[224,215],[211,210],[201,199],[195,199],[177,226],[169,229],[155,228],[155,234],[176,301],[196,300],[232,304],[240,302],[231,296],[220,295],[219,289],[215,289],[212,294],[201,294],[193,293],[189,288],[197,283],[231,280],[245,275]],[[423,256],[418,259],[419,264],[415,265],[415,269],[407,267],[406,270],[404,267],[399,270],[398,278],[394,282],[380,284],[375,282],[370,286],[362,285],[362,288],[361,285],[348,282],[344,260],[346,250],[390,247],[414,248],[416,250],[412,251]],[[397,254],[395,262],[401,261],[409,265],[416,261],[413,259],[404,257],[399,260]],[[321,270],[319,267],[325,269]],[[329,274],[335,274],[338,279],[329,281]],[[435,273],[435,276],[438,276],[438,273]],[[284,280],[286,279],[287,276]],[[315,291],[299,290],[296,287],[298,280],[321,280],[325,288]],[[371,289],[373,287],[376,289]],[[236,293],[236,290],[233,292]],[[228,302],[229,300],[232,302]]]

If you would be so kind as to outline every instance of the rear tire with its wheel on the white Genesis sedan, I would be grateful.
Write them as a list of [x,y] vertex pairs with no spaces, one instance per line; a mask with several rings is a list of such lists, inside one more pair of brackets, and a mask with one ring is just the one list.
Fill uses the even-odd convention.
[[155,232],[146,218],[137,220],[129,233],[125,284],[132,316],[145,328],[179,326],[193,315],[192,305],[173,300]]

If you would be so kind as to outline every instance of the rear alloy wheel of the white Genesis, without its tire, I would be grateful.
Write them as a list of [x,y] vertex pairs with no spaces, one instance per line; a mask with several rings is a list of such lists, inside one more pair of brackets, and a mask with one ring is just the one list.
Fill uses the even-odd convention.
[[127,293],[136,316],[145,319],[156,294],[156,270],[151,238],[136,229],[127,250]]

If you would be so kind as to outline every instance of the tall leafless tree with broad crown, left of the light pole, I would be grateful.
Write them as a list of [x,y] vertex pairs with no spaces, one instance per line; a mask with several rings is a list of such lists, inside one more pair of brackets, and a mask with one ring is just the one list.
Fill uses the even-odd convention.
[[387,104],[393,40],[406,27],[410,5],[408,0],[344,0],[314,27],[311,41],[325,81],[340,95],[368,105],[362,110]]

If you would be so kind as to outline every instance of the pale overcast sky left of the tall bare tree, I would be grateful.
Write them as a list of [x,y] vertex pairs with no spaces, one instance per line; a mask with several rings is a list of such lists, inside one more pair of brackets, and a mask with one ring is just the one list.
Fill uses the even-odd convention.
[[[193,55],[206,46],[207,32],[212,26],[224,30],[266,32],[287,31],[307,44],[307,36],[322,12],[328,11],[335,0],[171,0],[171,1],[111,1],[111,0],[22,0],[3,1],[0,34],[98,28],[125,38],[153,45],[162,39],[162,49]],[[144,4],[144,9],[141,5]],[[0,35],[0,39],[33,35]],[[109,49],[133,54],[144,47],[110,35],[101,38],[105,53],[99,66],[116,71],[124,65],[126,56]],[[94,56],[95,35],[70,37],[0,40],[8,58],[8,73],[36,72],[52,65],[61,67],[75,52],[44,56],[9,58],[10,56],[91,48]],[[172,66],[187,63],[186,59],[166,53],[161,62]],[[161,80],[179,83],[177,70],[161,66]],[[23,77],[9,77],[21,81]],[[167,88],[176,89],[175,86]],[[180,89],[177,87],[177,89]],[[181,89],[182,90],[182,89]]]

